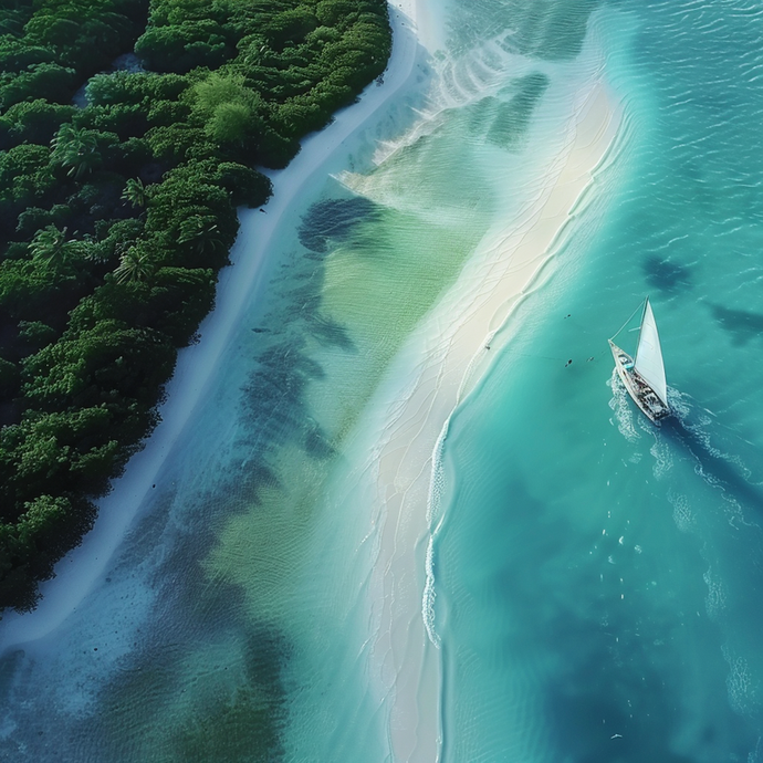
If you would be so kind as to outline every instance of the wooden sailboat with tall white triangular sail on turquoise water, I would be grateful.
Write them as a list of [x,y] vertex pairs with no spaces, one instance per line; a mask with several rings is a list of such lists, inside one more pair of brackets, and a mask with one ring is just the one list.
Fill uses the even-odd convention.
[[[617,334],[619,333],[617,332]],[[666,416],[670,416],[662,348],[649,297],[644,301],[636,359],[613,342],[617,334],[609,339],[609,349],[612,349],[615,358],[617,375],[628,394],[649,420],[657,422]]]

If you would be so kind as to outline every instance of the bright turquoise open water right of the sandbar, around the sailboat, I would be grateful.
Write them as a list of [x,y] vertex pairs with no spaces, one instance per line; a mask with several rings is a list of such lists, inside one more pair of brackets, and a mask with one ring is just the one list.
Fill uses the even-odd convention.
[[[763,19],[614,8],[627,168],[445,451],[447,761],[763,760]],[[660,428],[604,342],[645,293]]]

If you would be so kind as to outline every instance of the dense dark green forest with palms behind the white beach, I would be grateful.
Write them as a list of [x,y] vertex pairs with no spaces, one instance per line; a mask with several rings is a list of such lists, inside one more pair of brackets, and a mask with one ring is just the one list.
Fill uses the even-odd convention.
[[270,196],[253,167],[390,42],[385,0],[0,0],[0,607],[34,606],[156,425],[236,207]]

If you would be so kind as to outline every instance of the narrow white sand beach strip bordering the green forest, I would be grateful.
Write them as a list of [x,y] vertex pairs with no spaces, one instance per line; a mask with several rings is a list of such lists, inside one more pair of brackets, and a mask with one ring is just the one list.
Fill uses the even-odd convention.
[[[171,379],[166,386],[167,401],[160,406],[161,420],[145,440],[144,449],[128,462],[123,477],[113,481],[112,492],[98,502],[98,516],[82,544],[55,567],[55,576],[40,586],[42,598],[31,613],[9,612],[0,620],[0,654],[52,633],[104,574],[140,509],[156,485],[166,460],[181,438],[211,382],[220,356],[240,324],[247,306],[265,285],[269,271],[268,247],[280,220],[294,198],[320,171],[330,171],[343,145],[363,130],[377,112],[416,76],[418,39],[406,11],[416,0],[389,4],[393,52],[384,83],[370,83],[358,101],[337,112],[320,133],[302,140],[302,148],[285,169],[268,173],[273,196],[263,208],[242,209],[239,234],[230,253],[231,264],[220,273],[216,306],[199,326],[198,344],[181,349]],[[399,19],[399,10],[404,20]]]

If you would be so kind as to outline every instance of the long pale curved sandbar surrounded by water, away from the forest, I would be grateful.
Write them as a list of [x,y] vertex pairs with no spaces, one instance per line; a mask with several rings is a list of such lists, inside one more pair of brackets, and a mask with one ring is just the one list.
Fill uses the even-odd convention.
[[488,233],[404,349],[407,370],[396,369],[405,376],[405,393],[388,398],[387,409],[395,412],[382,435],[375,566],[379,600],[373,603],[379,623],[374,651],[393,702],[395,760],[430,763],[441,745],[436,583],[428,554],[441,519],[439,452],[450,417],[499,351],[497,332],[556,251],[619,122],[619,106],[600,82],[588,82],[576,94],[568,139],[546,165],[531,200]]

